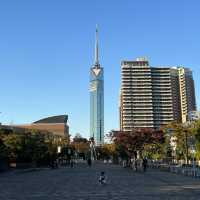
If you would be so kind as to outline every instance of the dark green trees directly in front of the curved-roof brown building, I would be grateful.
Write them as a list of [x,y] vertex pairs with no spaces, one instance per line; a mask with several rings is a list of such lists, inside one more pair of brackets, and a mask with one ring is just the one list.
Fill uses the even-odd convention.
[[57,146],[68,143],[67,138],[54,136],[38,130],[0,130],[0,159],[14,163],[35,163],[43,165],[53,159]]

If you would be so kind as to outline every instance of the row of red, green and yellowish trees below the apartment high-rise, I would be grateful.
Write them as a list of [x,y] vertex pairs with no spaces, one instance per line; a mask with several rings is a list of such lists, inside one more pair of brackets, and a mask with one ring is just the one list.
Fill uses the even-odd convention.
[[[200,160],[200,121],[170,123],[161,130],[149,128],[111,131],[115,155],[123,159]],[[113,154],[113,153],[111,153]]]

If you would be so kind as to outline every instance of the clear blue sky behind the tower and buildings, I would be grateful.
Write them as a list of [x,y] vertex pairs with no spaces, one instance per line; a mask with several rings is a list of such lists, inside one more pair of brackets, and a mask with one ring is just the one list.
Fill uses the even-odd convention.
[[118,128],[120,62],[193,69],[200,106],[199,0],[6,0],[0,2],[0,121],[69,115],[89,136],[89,69],[99,25],[105,132]]

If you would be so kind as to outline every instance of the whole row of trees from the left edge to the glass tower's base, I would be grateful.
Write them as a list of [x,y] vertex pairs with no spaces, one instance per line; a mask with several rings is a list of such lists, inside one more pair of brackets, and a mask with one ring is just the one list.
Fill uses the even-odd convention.
[[75,157],[87,159],[90,156],[90,141],[80,134],[70,142],[67,137],[47,131],[0,129],[0,170],[5,162],[24,167],[27,163],[47,166],[57,158],[68,163]]

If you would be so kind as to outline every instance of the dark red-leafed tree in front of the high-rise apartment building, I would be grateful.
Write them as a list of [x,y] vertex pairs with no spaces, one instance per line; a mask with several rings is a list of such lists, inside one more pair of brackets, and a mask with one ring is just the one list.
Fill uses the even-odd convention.
[[144,150],[155,148],[164,142],[161,130],[149,128],[133,129],[132,131],[111,131],[110,137],[116,145],[120,155],[136,157],[137,152],[142,155]]

